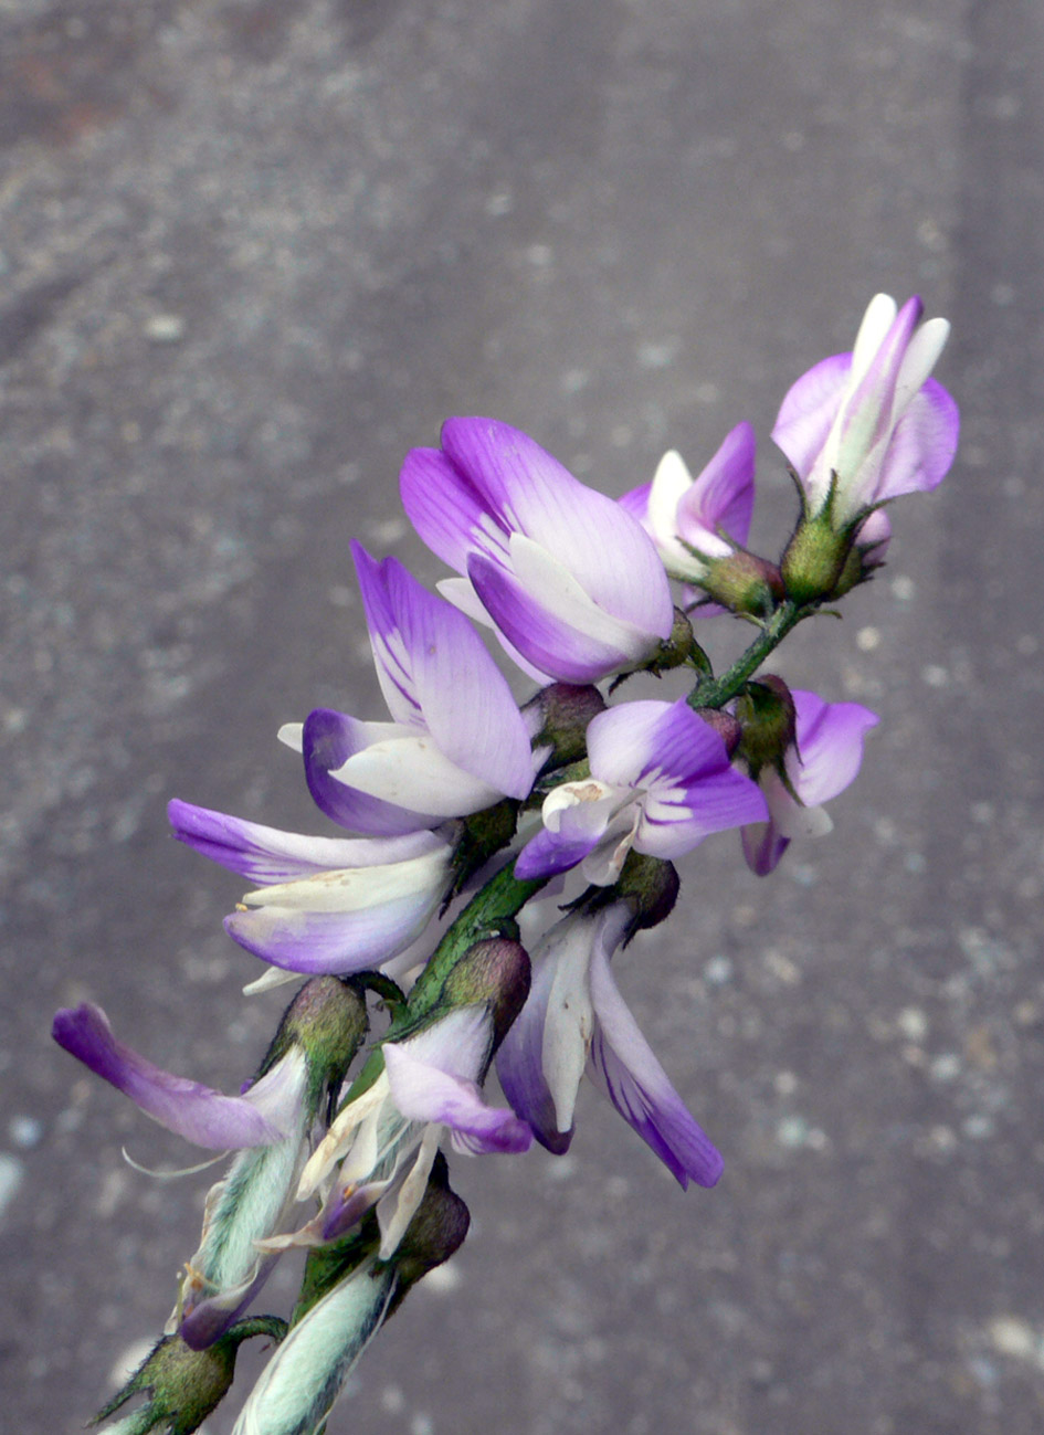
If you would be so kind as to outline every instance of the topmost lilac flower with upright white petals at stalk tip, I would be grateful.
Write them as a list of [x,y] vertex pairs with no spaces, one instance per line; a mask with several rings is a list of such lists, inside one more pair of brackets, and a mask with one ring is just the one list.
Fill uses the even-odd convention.
[[923,314],[919,298],[896,311],[872,301],[849,354],[810,369],[790,389],[773,438],[806,495],[806,514],[829,507],[842,530],[862,511],[900,494],[935,488],[956,452],[958,410],[929,379],[949,334],[945,319]]

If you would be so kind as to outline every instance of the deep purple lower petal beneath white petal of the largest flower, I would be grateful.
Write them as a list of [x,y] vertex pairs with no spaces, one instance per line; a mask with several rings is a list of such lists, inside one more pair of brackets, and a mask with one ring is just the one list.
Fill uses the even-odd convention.
[[[477,554],[468,560],[468,577],[507,641],[540,673],[563,683],[595,683],[651,656],[656,647],[658,640],[649,637],[645,653],[636,651],[633,631],[622,624],[606,640],[563,623],[514,574]],[[605,633],[602,616],[592,618],[592,626],[596,623]]]

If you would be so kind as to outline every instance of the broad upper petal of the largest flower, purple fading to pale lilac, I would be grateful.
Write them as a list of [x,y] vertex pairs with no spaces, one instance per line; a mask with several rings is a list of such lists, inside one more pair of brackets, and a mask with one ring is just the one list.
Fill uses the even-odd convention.
[[501,524],[563,564],[599,608],[642,631],[669,634],[674,606],[663,565],[619,504],[494,419],[447,419],[442,446]]

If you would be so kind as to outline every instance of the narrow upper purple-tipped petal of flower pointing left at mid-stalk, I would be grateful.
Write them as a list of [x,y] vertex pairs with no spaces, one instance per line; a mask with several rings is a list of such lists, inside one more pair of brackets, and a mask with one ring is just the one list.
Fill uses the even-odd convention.
[[174,799],[167,814],[180,842],[258,885],[290,883],[335,867],[373,867],[435,851],[434,832],[391,838],[304,837]]

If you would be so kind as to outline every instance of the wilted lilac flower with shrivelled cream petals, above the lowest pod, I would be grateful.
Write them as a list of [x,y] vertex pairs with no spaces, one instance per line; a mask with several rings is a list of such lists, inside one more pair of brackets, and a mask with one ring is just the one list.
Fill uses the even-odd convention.
[[[329,1184],[317,1227],[333,1240],[376,1204],[381,1258],[395,1251],[428,1184],[444,1131],[458,1151],[527,1151],[533,1134],[481,1096],[494,1040],[487,1004],[454,1007],[401,1042],[385,1042],[385,1069],[335,1119],[312,1155],[299,1200]],[[365,1191],[365,1201],[358,1197]]]

